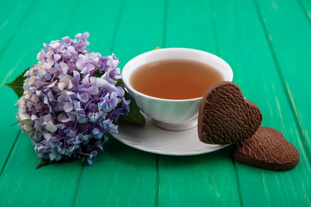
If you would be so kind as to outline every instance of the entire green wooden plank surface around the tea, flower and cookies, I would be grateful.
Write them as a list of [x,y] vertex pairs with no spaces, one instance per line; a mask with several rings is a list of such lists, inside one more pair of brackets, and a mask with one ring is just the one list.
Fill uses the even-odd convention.
[[[14,123],[4,86],[36,64],[42,43],[90,33],[90,51],[131,58],[156,46],[187,47],[227,61],[263,126],[301,155],[293,170],[240,164],[232,147],[165,156],[109,139],[82,160],[35,170],[32,144]],[[1,207],[311,207],[310,0],[0,0]]]

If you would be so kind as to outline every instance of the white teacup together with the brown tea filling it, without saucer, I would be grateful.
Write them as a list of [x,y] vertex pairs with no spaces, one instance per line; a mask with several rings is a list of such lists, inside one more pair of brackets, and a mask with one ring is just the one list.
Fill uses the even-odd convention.
[[188,48],[143,53],[122,70],[122,81],[141,111],[158,127],[171,131],[196,127],[205,91],[232,79],[233,71],[223,59]]

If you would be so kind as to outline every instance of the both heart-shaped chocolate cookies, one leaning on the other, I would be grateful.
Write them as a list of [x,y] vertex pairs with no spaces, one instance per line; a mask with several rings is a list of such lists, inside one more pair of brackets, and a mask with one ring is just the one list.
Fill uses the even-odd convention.
[[285,171],[300,155],[283,134],[260,127],[259,108],[246,100],[239,87],[228,81],[212,85],[205,93],[198,118],[198,135],[208,144],[235,144],[233,158],[251,166]]

